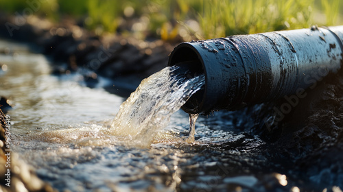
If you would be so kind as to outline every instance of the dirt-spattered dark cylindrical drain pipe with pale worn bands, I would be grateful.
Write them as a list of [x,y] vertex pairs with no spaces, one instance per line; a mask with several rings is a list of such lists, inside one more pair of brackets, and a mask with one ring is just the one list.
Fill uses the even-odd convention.
[[296,93],[343,63],[343,26],[191,41],[175,47],[168,66],[193,62],[205,86],[182,110],[236,110]]

